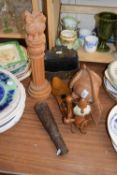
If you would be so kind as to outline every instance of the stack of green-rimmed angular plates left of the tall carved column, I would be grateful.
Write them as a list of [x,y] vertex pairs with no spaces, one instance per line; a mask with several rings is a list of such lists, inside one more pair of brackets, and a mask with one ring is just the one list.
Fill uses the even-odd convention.
[[26,49],[17,41],[0,43],[0,66],[13,73],[20,81],[31,74]]

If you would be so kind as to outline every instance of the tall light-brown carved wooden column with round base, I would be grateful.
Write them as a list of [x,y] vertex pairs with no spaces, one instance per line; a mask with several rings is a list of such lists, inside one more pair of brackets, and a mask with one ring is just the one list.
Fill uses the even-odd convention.
[[32,80],[28,92],[40,101],[46,99],[51,92],[50,84],[45,79],[44,68],[45,22],[46,18],[42,12],[25,11],[26,44],[32,67]]

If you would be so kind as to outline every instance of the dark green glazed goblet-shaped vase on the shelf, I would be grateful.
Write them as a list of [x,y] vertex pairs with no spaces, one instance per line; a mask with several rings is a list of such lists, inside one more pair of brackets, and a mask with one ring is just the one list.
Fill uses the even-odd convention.
[[95,15],[97,34],[99,37],[98,51],[108,52],[107,40],[112,36],[117,23],[117,14],[112,12],[101,12]]

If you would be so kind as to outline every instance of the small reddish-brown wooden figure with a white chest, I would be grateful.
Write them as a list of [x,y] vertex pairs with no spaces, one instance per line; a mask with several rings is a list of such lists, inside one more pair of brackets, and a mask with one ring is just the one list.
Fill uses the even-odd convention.
[[88,91],[83,90],[80,99],[74,100],[72,96],[66,97],[67,116],[64,123],[75,123],[81,133],[86,133],[87,125],[91,121],[91,105],[87,101]]

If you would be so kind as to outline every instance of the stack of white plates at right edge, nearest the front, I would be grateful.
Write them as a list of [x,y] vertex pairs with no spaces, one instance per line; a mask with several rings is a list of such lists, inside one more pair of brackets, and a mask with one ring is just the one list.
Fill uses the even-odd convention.
[[112,108],[107,120],[107,128],[112,145],[117,152],[117,105]]

